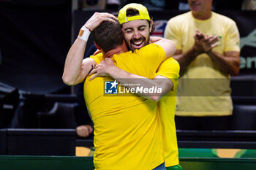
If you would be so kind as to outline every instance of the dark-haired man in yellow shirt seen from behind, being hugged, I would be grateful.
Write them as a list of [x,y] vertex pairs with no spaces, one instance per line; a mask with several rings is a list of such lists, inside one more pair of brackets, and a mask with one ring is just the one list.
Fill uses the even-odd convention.
[[[84,75],[89,72],[88,63],[91,63],[92,59],[86,58],[83,61],[83,55],[81,55],[90,34],[89,29],[93,36],[97,35],[94,36],[94,40],[104,57],[113,57],[117,66],[128,72],[140,73],[144,77],[153,78],[159,64],[165,60],[166,56],[175,52],[173,42],[163,39],[167,45],[164,43],[159,46],[160,40],[156,44],[135,50],[134,53],[120,54],[127,49],[121,26],[118,25],[119,31],[111,30],[116,28],[116,25],[115,27],[110,25],[115,21],[109,17],[111,17],[109,14],[96,13],[81,28],[78,39],[75,40],[66,58],[63,74],[66,84],[75,85],[83,82]],[[94,30],[102,18],[111,22]],[[102,37],[105,41],[101,41]],[[110,77],[97,77],[91,81],[89,78],[86,78],[84,91],[87,108],[94,121],[95,169],[155,169],[162,164],[164,158],[157,102],[132,93],[128,93],[128,96],[122,96],[120,93],[106,96],[103,90],[105,83],[108,82],[108,85],[115,87],[116,82]],[[161,166],[157,167],[159,168]]]

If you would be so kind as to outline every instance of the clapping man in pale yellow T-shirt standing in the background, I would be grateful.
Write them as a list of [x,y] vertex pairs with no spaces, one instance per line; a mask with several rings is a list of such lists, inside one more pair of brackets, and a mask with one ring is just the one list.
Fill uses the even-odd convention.
[[177,129],[230,128],[230,75],[239,72],[239,33],[233,20],[211,11],[212,2],[188,0],[191,11],[170,19],[165,28],[181,66]]

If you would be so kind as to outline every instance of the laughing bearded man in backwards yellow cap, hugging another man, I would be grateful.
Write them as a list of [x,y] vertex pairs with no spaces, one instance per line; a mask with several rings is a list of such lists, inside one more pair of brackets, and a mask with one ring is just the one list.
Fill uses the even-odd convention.
[[[121,23],[124,39],[129,50],[134,51],[150,43],[150,34],[153,33],[154,29],[152,28],[152,21],[146,7],[135,3],[127,4],[119,11],[118,21]],[[113,69],[115,66],[108,63],[102,63],[103,69],[97,68],[93,73],[98,72],[100,76],[102,72],[106,73],[106,70],[108,70],[107,75],[118,80],[118,82],[123,84],[135,83],[135,75],[129,75],[118,68]],[[113,72],[113,70],[115,70],[115,72]],[[174,121],[178,72],[178,63],[173,58],[168,58],[164,61],[155,74],[153,85],[160,85],[163,80],[170,80],[172,82],[172,90],[165,94],[161,100],[159,100],[161,96],[157,96],[157,99],[154,98],[154,96],[147,96],[153,100],[159,100],[158,109],[160,122],[162,124],[165,166],[167,169],[182,169],[181,166],[178,165],[178,146]],[[97,77],[97,74],[94,77]]]

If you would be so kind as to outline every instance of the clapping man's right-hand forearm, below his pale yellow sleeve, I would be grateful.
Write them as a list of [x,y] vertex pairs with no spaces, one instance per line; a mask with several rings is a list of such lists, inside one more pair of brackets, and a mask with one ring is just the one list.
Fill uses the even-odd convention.
[[233,76],[238,75],[240,66],[240,60],[238,57],[227,57],[215,52],[214,50],[210,50],[207,54],[221,72]]

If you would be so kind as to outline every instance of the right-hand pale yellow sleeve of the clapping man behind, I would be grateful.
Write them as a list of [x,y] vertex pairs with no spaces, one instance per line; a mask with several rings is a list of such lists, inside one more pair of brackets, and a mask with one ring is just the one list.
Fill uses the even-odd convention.
[[240,51],[240,36],[235,22],[227,29],[224,51]]

